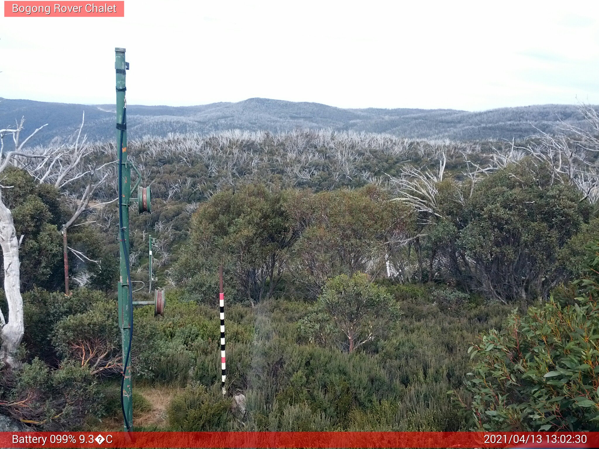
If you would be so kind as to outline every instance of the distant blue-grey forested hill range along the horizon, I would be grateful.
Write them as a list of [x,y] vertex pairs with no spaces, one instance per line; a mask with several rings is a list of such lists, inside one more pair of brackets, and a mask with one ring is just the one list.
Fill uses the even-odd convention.
[[[85,132],[92,141],[112,139],[114,105],[81,105],[20,99],[0,101],[0,126],[25,117],[26,131],[48,123],[35,136],[47,144],[73,134],[85,111]],[[436,109],[342,109],[319,103],[250,98],[237,103],[189,107],[128,107],[129,135],[165,136],[170,132],[213,132],[225,129],[286,131],[331,128],[393,134],[408,138],[512,139],[551,131],[559,120],[582,123],[574,105],[537,105],[483,112]]]

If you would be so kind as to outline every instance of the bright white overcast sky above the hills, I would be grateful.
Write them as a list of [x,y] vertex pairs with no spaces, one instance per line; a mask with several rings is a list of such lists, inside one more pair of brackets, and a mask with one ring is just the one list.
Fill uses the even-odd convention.
[[113,103],[125,47],[129,104],[597,104],[598,18],[598,1],[126,0],[124,18],[0,17],[0,96]]

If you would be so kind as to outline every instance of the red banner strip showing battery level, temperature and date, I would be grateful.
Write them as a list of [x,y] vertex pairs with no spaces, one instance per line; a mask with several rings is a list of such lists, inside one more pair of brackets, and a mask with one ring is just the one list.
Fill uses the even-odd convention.
[[0,432],[3,448],[582,448],[599,432]]

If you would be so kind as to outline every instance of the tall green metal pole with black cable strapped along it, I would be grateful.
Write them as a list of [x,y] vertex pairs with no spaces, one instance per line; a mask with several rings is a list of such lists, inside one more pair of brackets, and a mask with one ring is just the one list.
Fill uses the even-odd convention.
[[[124,114],[126,107],[125,99],[125,48],[115,48],[115,62],[114,68],[116,69],[116,123],[117,123],[117,151],[122,151],[122,198],[119,198],[120,211],[123,214],[123,234],[125,236],[124,241],[120,242],[120,280],[118,285],[119,292],[119,326],[120,335],[122,338],[122,350],[123,350],[123,363],[125,362],[126,354],[129,351],[129,323],[131,323],[131,317],[133,311],[129,307],[129,279],[127,278],[127,267],[125,265],[125,248],[126,254],[129,254],[129,199],[131,198],[131,167],[127,163],[127,131],[126,131],[126,114]],[[122,131],[122,129],[125,129]],[[121,132],[123,133],[123,147],[118,148],[121,139]],[[118,153],[117,153],[118,154]],[[131,396],[131,360],[127,364],[125,372],[125,381],[123,383],[123,406],[125,408],[125,417],[132,427],[133,423],[133,408],[132,408],[132,396]],[[125,427],[125,430],[126,429]]]

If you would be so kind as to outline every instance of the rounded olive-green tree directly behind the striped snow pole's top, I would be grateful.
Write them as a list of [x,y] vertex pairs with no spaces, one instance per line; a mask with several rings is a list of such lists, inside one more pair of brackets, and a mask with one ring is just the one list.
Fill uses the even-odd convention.
[[305,195],[247,184],[211,196],[193,214],[189,245],[174,269],[176,280],[186,284],[192,298],[208,304],[217,298],[222,264],[225,286],[234,286],[229,299],[254,304],[270,298],[307,225],[294,207]]

